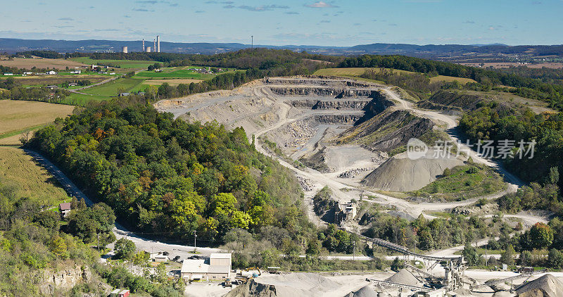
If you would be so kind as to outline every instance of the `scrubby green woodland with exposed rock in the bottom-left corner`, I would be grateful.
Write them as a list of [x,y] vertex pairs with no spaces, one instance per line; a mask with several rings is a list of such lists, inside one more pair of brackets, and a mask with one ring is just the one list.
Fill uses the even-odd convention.
[[[165,273],[137,276],[122,265],[99,263],[99,251],[115,241],[115,215],[106,204],[87,208],[74,199],[61,220],[53,206],[17,193],[18,185],[0,182],[1,295],[106,296],[110,284],[151,296],[182,296],[183,288]],[[67,277],[66,284],[54,284],[61,274],[73,273],[76,282]]]

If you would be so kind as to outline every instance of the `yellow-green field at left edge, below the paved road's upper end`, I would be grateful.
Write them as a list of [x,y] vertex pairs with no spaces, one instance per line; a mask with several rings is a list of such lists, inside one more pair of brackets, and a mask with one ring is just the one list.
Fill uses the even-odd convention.
[[0,146],[0,179],[8,187],[17,185],[18,196],[27,196],[49,205],[69,199],[56,179],[20,148]]

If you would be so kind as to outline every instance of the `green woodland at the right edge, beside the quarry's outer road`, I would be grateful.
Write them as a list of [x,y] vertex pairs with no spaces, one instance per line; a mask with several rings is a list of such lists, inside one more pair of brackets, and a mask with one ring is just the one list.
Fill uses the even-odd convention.
[[[532,141],[535,139],[533,158],[519,156],[505,160],[506,167],[531,182],[529,187],[500,198],[501,208],[518,211],[522,208],[550,209],[563,214],[561,193],[563,179],[563,113],[533,113],[529,108],[507,108],[495,103],[463,115],[460,128],[470,139],[502,139]],[[527,148],[526,148],[527,149]]]

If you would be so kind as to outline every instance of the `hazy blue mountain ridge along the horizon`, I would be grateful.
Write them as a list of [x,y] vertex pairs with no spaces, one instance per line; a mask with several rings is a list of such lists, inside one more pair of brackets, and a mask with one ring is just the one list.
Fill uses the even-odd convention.
[[[153,46],[153,42],[145,41],[146,46]],[[94,52],[94,51],[121,51],[122,46],[127,46],[128,51],[142,51],[142,43],[138,41],[119,40],[54,40],[54,39],[12,39],[0,38],[0,52],[15,53],[30,50],[51,50],[58,52]],[[356,46],[313,46],[313,45],[255,45],[270,49],[289,49],[291,51],[308,51],[310,53],[323,53],[329,55],[360,55],[366,53],[405,56],[419,56],[422,58],[439,58],[460,56],[466,53],[477,54],[521,54],[534,56],[563,56],[563,45],[520,45],[508,46],[505,44],[360,44]],[[201,53],[213,54],[227,51],[238,51],[251,47],[250,44],[241,43],[187,43],[187,42],[160,42],[160,48],[168,53]]]

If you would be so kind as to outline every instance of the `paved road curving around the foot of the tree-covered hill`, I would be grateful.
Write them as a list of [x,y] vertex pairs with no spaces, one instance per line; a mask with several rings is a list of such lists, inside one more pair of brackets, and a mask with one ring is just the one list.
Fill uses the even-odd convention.
[[[61,184],[63,189],[68,193],[69,196],[75,196],[77,198],[84,199],[84,202],[87,206],[94,205],[94,201],[92,201],[88,196],[86,196],[60,169],[56,167],[50,160],[44,158],[40,153],[36,151],[30,151],[25,149],[25,153],[32,156],[37,163],[42,165],[47,171],[49,171]],[[162,241],[156,241],[151,239],[145,239],[133,232],[130,232],[125,227],[120,225],[118,222],[115,222],[115,227],[113,227],[113,234],[117,239],[125,237],[134,242],[135,246],[139,251],[166,251],[170,254],[170,258],[174,258],[176,255],[179,255],[180,258],[183,260],[190,255],[194,255],[194,246],[184,246],[181,244],[167,244]],[[113,244],[108,245],[109,248],[113,248]],[[209,255],[210,253],[220,253],[222,250],[218,248],[196,248],[196,251],[199,255]]]

